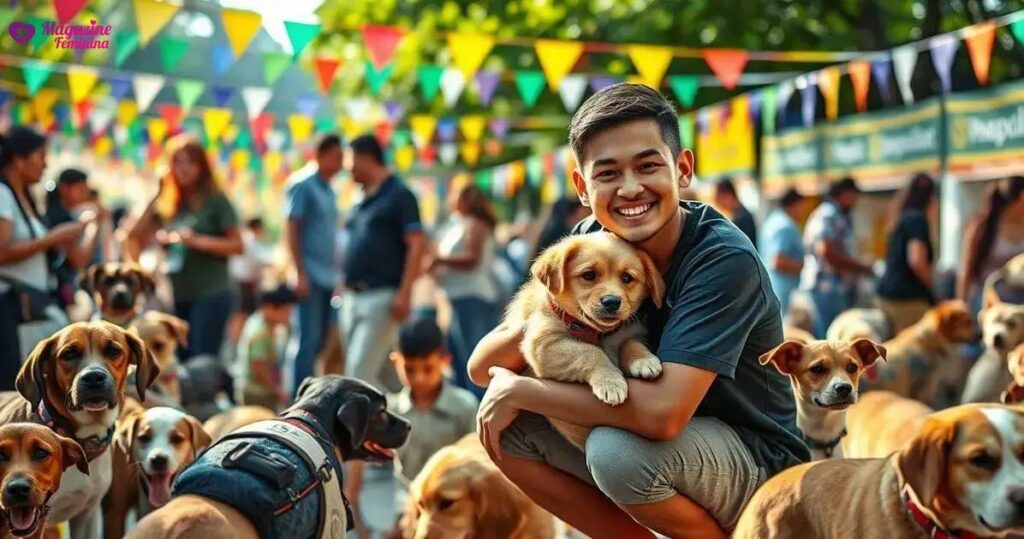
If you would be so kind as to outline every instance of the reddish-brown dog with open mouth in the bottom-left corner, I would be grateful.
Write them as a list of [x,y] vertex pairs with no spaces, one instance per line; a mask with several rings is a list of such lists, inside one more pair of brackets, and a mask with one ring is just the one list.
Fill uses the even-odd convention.
[[0,537],[39,539],[66,469],[89,473],[77,442],[35,423],[0,426]]

